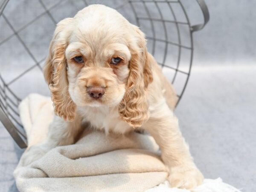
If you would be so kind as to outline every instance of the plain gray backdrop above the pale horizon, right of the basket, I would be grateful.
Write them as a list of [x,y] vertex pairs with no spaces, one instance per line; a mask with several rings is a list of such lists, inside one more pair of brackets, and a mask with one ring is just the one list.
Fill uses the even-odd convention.
[[[201,20],[196,4],[183,1],[192,23]],[[202,66],[247,66],[256,60],[255,0],[205,0],[210,21],[194,34],[195,60]]]

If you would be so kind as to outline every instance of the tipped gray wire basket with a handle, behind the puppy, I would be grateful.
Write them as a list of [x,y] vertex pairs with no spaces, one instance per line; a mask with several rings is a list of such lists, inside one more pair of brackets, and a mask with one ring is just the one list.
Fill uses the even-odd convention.
[[192,65],[192,33],[209,20],[204,0],[197,0],[204,24],[191,26],[181,0],[3,0],[0,4],[0,120],[20,148],[26,134],[18,105],[29,93],[49,95],[42,66],[56,23],[90,4],[117,9],[140,26],[148,51],[182,97]]

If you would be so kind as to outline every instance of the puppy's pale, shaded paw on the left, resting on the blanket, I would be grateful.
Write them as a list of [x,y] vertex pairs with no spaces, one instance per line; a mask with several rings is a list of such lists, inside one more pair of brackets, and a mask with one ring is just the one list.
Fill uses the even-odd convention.
[[46,153],[47,153],[47,150],[44,147],[41,147],[40,145],[32,146],[22,156],[21,165],[27,166],[27,165],[33,163],[35,160],[38,160],[41,157],[43,157],[44,154],[46,154]]

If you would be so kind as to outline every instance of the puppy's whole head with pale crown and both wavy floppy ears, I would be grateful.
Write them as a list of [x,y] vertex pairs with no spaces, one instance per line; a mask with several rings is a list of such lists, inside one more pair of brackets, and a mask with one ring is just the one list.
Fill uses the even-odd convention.
[[72,121],[77,106],[117,107],[131,126],[148,118],[152,81],[143,32],[114,9],[84,8],[58,23],[44,76],[55,113]]

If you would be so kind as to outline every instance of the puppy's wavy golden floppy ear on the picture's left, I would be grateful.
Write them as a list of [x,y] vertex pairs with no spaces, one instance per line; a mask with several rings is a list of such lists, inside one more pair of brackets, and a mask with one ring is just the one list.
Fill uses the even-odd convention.
[[64,32],[64,29],[71,20],[72,18],[66,18],[57,24],[44,66],[44,77],[51,91],[55,114],[68,121],[75,118],[76,112],[76,105],[68,92],[67,61],[65,58],[67,32]]

